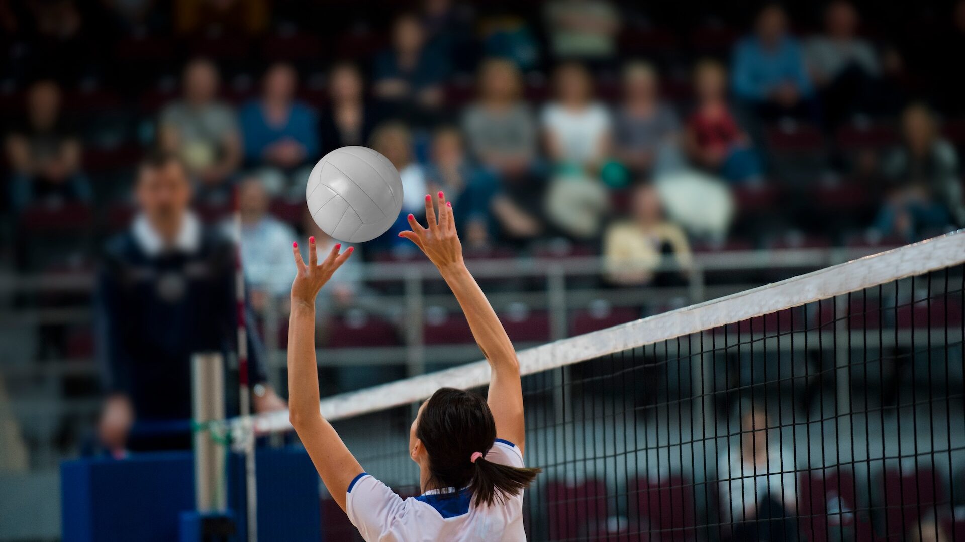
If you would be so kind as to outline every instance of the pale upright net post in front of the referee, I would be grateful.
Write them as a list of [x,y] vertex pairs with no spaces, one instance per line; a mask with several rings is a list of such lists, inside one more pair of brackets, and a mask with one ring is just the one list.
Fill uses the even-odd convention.
[[195,354],[191,359],[191,404],[194,418],[195,508],[199,513],[224,512],[225,445],[207,430],[212,421],[225,420],[224,360],[217,352]]

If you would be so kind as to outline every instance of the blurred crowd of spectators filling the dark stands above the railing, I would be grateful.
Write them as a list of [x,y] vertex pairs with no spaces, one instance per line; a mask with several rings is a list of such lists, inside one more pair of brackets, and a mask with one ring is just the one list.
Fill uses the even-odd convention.
[[[262,292],[287,287],[276,270],[296,231],[324,238],[304,185],[346,145],[398,168],[402,216],[445,191],[468,251],[602,254],[619,285],[661,280],[661,257],[686,266],[693,250],[965,225],[965,82],[950,62],[965,2],[871,21],[846,0],[701,5],[703,18],[610,0],[399,8],[0,1],[3,208],[18,241],[5,256],[45,265],[20,241],[51,221],[95,238],[124,228],[148,149],[179,156],[205,219],[238,190]],[[401,228],[365,258],[398,257]]]

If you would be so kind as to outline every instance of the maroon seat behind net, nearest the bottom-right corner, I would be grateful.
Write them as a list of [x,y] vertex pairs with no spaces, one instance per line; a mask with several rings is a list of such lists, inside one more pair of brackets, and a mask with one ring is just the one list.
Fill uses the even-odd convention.
[[878,487],[885,514],[885,533],[889,540],[901,540],[905,530],[916,525],[924,514],[945,502],[943,477],[930,467],[886,469]]

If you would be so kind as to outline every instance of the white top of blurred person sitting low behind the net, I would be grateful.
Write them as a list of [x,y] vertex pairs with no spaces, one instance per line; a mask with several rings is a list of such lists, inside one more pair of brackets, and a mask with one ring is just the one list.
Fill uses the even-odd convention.
[[748,509],[756,509],[766,496],[780,502],[786,510],[793,510],[797,501],[797,480],[794,476],[794,453],[775,444],[767,447],[766,465],[747,465],[740,445],[731,447],[717,465],[718,488],[721,494],[723,523],[737,523],[745,518]]

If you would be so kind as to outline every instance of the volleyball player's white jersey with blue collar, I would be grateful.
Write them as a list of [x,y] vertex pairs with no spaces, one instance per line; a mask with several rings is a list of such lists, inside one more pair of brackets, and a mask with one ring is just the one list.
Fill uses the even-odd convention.
[[[486,461],[523,466],[523,454],[510,441],[496,439]],[[453,495],[457,493],[457,495]],[[345,511],[367,542],[446,540],[523,542],[523,494],[477,506],[468,490],[427,491],[402,500],[372,474],[362,473],[348,484]]]

